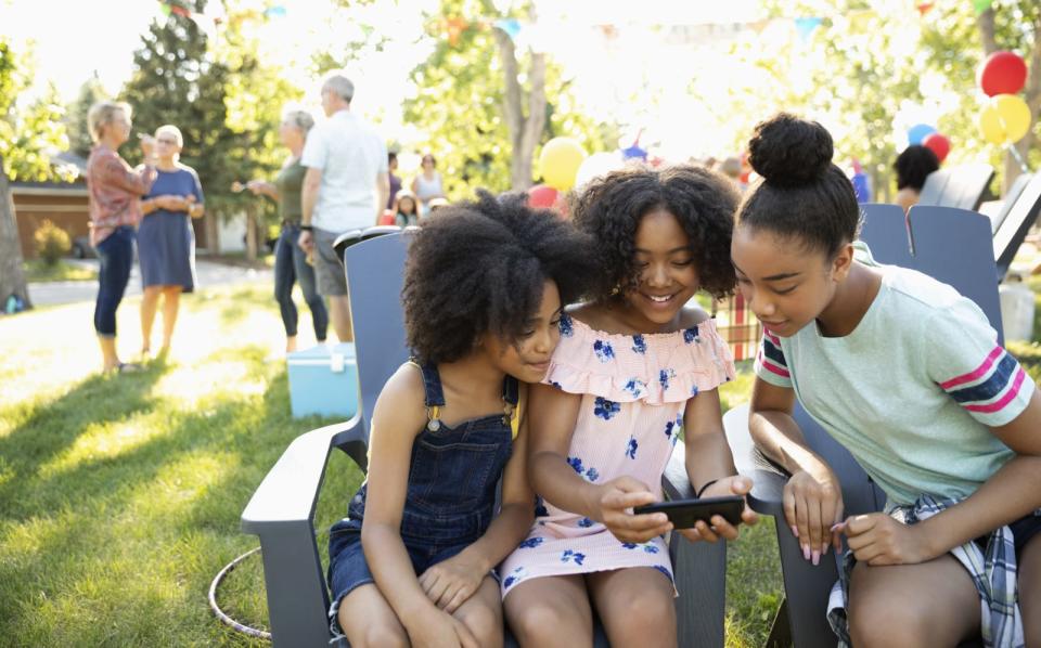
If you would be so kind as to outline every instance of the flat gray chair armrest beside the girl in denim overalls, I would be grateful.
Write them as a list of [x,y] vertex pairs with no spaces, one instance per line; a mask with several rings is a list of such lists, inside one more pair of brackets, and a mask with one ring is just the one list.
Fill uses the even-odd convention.
[[271,526],[310,523],[334,439],[339,444],[347,444],[356,438],[364,440],[360,415],[294,439],[242,511],[242,530],[260,535]]

